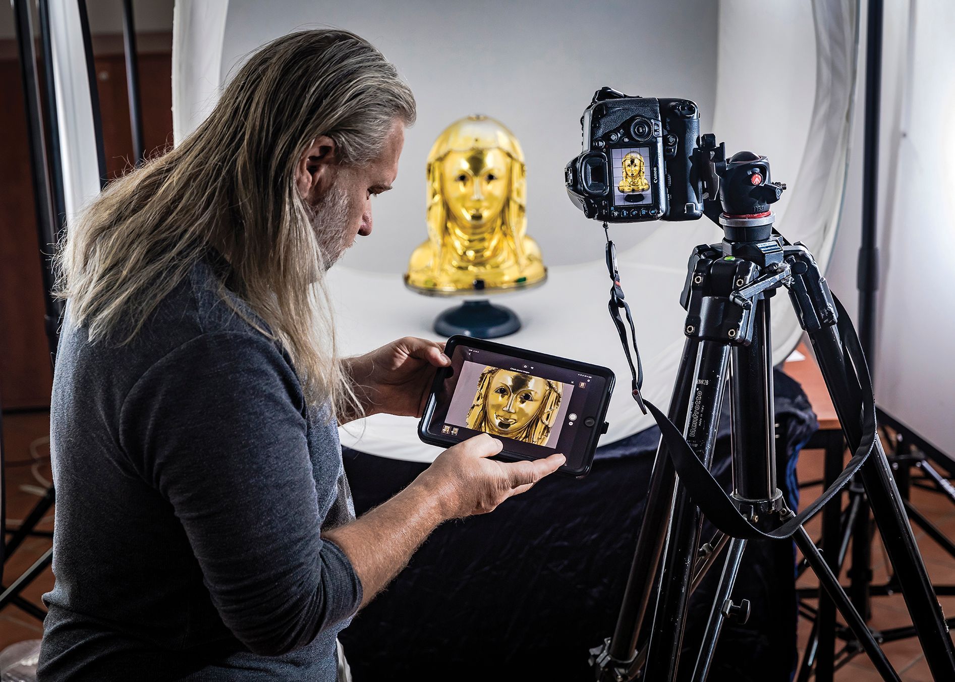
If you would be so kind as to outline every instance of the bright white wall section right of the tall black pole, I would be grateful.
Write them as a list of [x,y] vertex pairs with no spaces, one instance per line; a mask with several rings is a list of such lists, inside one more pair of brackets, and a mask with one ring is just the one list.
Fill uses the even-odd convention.
[[907,62],[902,120],[880,153],[898,166],[881,184],[876,402],[955,457],[955,5],[913,2],[908,23],[907,48],[894,55]]

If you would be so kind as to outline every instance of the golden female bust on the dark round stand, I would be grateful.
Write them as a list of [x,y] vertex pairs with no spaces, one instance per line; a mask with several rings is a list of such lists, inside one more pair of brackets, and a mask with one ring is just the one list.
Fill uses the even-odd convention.
[[430,295],[527,288],[547,268],[528,237],[520,144],[494,118],[452,123],[428,156],[428,241],[414,249],[405,285]]

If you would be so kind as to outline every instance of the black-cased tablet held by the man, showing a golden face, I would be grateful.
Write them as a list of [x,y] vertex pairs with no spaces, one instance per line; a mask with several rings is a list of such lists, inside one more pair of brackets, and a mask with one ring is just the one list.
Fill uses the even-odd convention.
[[558,473],[590,471],[615,381],[611,370],[577,360],[452,336],[451,366],[435,383],[418,425],[426,443],[450,447],[490,434],[500,459],[566,458]]

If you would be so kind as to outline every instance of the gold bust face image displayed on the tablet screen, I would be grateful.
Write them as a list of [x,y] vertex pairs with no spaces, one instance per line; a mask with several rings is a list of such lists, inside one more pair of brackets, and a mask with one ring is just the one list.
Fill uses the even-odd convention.
[[546,445],[561,407],[560,381],[485,367],[467,414],[467,426],[492,436]]

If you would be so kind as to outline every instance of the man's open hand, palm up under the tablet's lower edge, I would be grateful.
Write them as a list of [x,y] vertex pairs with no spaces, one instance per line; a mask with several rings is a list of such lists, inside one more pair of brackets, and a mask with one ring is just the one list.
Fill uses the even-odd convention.
[[487,434],[468,438],[441,453],[412,485],[435,496],[444,519],[459,519],[493,511],[502,501],[553,474],[566,460],[559,453],[512,462],[490,459],[502,447]]

